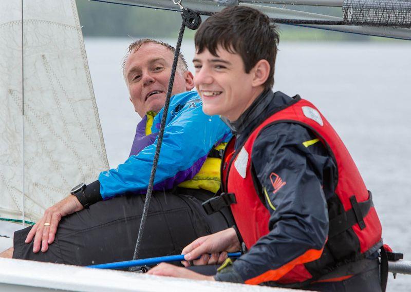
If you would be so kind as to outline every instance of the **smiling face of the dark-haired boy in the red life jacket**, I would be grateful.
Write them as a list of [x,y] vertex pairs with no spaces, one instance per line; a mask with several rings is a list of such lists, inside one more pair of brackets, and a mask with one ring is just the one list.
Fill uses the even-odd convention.
[[236,121],[253,102],[253,74],[246,73],[239,54],[217,48],[217,57],[208,49],[194,56],[194,84],[206,114],[219,114]]

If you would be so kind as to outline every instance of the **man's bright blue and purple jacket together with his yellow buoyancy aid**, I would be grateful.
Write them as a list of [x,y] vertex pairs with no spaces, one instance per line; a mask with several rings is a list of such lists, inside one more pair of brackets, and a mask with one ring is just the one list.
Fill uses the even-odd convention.
[[[104,199],[127,191],[144,193],[153,164],[163,109],[147,112],[138,124],[130,157],[116,169],[100,174]],[[201,188],[215,192],[220,186],[221,159],[210,155],[224,148],[231,132],[219,116],[202,112],[202,102],[195,91],[172,97],[167,114],[155,190],[174,186]],[[216,149],[216,150],[213,150]]]

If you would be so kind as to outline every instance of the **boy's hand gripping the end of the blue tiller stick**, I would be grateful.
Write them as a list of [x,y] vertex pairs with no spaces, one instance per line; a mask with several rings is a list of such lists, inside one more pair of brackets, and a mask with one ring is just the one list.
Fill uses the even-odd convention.
[[[237,233],[234,228],[228,228],[212,235],[200,237],[184,247],[181,254],[185,255],[185,261],[181,263],[185,267],[190,266],[186,261],[192,260],[194,265],[221,264],[227,259],[227,252],[240,249]],[[211,254],[211,257],[209,254]],[[201,258],[196,260],[200,256]]]

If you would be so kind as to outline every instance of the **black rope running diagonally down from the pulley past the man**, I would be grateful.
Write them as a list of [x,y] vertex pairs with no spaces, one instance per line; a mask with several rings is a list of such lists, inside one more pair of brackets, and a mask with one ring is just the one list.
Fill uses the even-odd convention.
[[[144,201],[143,213],[141,215],[140,228],[139,228],[139,232],[138,232],[138,236],[137,236],[136,247],[134,249],[133,260],[136,260],[138,258],[138,255],[139,255],[141,239],[143,237],[143,232],[144,232],[145,220],[147,218],[148,208],[150,207],[150,200],[151,200],[151,196],[152,196],[152,193],[153,193],[153,186],[154,186],[154,177],[156,175],[158,159],[160,157],[160,148],[161,148],[161,144],[163,142],[165,121],[166,121],[166,118],[167,118],[167,113],[169,112],[171,91],[173,90],[174,76],[176,74],[178,57],[179,57],[179,54],[180,54],[180,47],[181,47],[181,42],[182,42],[183,34],[184,34],[184,28],[185,28],[185,25],[184,25],[184,22],[183,22],[181,24],[180,32],[178,34],[176,50],[174,52],[174,61],[173,61],[173,67],[171,69],[169,88],[167,89],[167,94],[165,96],[164,111],[163,111],[163,116],[161,117],[160,130],[158,132],[158,138],[157,138],[157,147],[156,147],[156,152],[154,154],[153,167],[151,169],[151,174],[150,174],[150,181],[148,182],[147,194],[146,194],[145,201]],[[134,271],[136,269],[133,268],[133,267],[130,267],[129,270]]]

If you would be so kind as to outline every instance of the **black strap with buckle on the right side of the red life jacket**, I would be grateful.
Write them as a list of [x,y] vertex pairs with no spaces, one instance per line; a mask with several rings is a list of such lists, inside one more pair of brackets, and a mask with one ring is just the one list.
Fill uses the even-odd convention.
[[361,203],[357,202],[355,196],[350,197],[352,208],[330,220],[329,238],[340,234],[357,223],[361,230],[365,228],[364,217],[367,215],[371,206],[373,206],[371,192],[368,191],[368,194],[368,200]]

